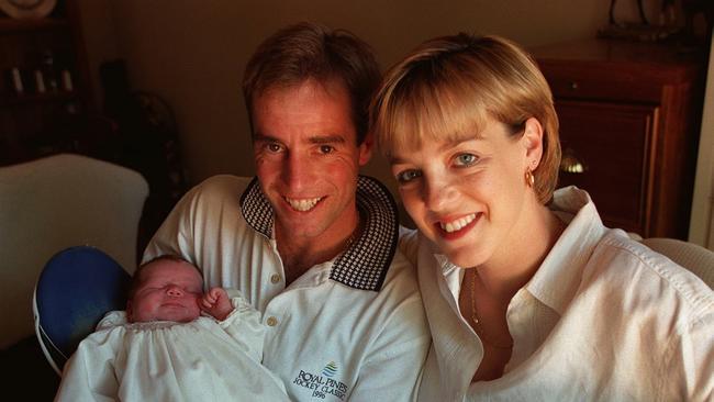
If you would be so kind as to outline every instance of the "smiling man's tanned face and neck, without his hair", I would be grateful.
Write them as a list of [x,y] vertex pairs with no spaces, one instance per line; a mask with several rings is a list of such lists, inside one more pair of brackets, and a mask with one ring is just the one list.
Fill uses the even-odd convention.
[[326,243],[350,233],[371,138],[357,145],[344,86],[308,80],[268,90],[254,100],[253,122],[256,170],[276,231]]

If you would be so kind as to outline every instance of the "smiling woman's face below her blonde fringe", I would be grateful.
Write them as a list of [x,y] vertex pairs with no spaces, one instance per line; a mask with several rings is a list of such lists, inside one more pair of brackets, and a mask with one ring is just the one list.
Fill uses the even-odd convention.
[[526,196],[533,196],[524,175],[536,166],[534,121],[526,122],[522,136],[510,136],[504,124],[490,119],[480,133],[392,153],[406,211],[451,263],[480,266],[517,247],[511,241],[522,230]]

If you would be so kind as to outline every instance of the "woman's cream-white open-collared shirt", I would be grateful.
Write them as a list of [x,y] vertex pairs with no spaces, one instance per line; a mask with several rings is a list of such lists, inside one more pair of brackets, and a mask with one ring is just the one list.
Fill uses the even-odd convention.
[[403,237],[434,337],[419,400],[714,400],[709,286],[604,227],[584,191],[558,190],[551,208],[568,227],[509,304],[513,353],[493,381],[471,383],[483,349],[458,310],[464,269],[426,238]]

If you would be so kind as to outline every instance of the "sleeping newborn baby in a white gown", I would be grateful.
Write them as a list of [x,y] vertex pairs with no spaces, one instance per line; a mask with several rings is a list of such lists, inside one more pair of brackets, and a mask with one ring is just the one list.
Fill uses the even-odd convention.
[[237,291],[202,289],[198,268],[180,257],[142,265],[126,311],[108,313],[79,344],[55,400],[288,401],[260,364],[260,313]]

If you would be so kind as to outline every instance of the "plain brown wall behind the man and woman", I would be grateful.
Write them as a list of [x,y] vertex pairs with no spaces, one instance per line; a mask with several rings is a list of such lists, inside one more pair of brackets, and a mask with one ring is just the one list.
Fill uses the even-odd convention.
[[[92,69],[126,59],[135,89],[175,109],[191,183],[220,172],[253,175],[243,69],[257,44],[285,24],[312,20],[372,44],[382,68],[422,41],[458,31],[495,33],[525,46],[594,36],[603,0],[80,0]],[[635,15],[620,1],[618,19]],[[109,32],[114,32],[109,43]],[[107,41],[103,45],[100,40]],[[98,86],[97,86],[98,87]],[[380,158],[365,169],[393,186]],[[393,187],[392,187],[393,188]]]

